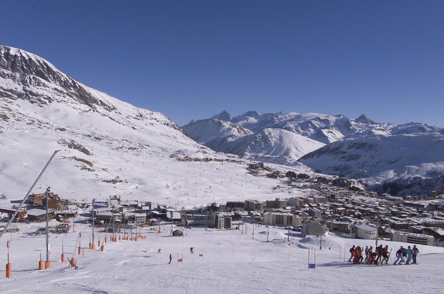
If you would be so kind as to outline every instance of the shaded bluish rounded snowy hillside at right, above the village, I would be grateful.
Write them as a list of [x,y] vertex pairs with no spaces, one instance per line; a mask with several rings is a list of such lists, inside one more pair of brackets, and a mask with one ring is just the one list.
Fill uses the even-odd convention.
[[367,135],[331,143],[301,163],[327,174],[383,180],[444,169],[444,129],[413,135]]

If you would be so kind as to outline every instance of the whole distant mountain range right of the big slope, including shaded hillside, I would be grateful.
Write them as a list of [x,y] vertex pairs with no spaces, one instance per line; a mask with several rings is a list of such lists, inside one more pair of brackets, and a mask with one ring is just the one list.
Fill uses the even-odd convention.
[[[211,126],[211,127],[210,127]],[[229,126],[229,127],[228,127]],[[425,123],[377,123],[367,115],[222,111],[182,127],[215,151],[383,182],[444,170],[444,132]]]

